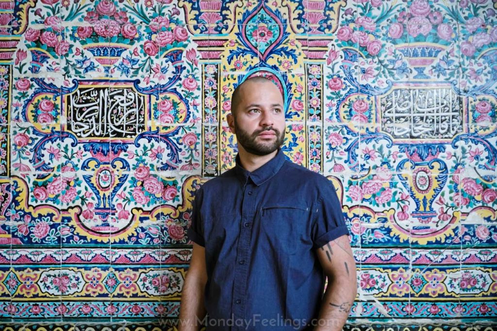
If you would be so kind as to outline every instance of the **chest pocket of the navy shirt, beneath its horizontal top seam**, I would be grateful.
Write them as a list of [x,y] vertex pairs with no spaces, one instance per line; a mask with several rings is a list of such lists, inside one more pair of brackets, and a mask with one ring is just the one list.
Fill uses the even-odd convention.
[[261,234],[269,243],[272,254],[296,253],[305,241],[310,208],[300,205],[267,204],[260,211]]

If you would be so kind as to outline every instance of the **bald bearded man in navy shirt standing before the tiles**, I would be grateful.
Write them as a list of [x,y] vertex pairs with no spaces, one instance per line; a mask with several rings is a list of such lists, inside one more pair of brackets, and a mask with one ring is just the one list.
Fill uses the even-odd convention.
[[330,181],[285,160],[283,104],[263,77],[233,93],[236,166],[193,202],[180,331],[201,322],[207,330],[341,330],[347,319],[356,273],[341,205]]

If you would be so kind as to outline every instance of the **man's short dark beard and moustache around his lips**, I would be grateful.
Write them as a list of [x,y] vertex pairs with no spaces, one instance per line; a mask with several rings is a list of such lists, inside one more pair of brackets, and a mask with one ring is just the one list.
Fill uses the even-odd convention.
[[[252,134],[250,134],[247,131],[238,128],[238,126],[236,125],[236,121],[235,121],[235,130],[237,132],[236,136],[238,143],[242,145],[242,147],[244,147],[244,149],[248,153],[258,156],[271,154],[283,144],[283,140],[285,138],[285,132],[279,132],[278,129],[274,129],[273,127],[265,127],[262,128],[261,130],[254,131],[252,132]],[[276,139],[274,139],[274,141],[268,141],[262,143],[257,142],[257,135],[264,131],[274,132],[276,134]]]

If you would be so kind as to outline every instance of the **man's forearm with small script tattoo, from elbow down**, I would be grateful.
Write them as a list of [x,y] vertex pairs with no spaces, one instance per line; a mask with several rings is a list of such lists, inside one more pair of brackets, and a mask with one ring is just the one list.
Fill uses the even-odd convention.
[[318,324],[315,331],[342,330],[357,293],[355,278],[339,277],[328,279]]

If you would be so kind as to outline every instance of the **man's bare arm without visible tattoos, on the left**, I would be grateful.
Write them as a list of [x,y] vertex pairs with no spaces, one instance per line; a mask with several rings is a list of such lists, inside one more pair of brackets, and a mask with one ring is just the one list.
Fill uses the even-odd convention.
[[206,282],[205,248],[193,243],[190,267],[181,294],[179,331],[200,330],[200,321],[204,319],[206,313],[204,307]]

